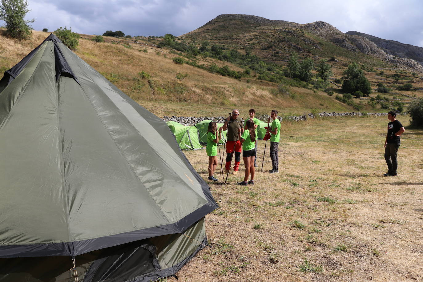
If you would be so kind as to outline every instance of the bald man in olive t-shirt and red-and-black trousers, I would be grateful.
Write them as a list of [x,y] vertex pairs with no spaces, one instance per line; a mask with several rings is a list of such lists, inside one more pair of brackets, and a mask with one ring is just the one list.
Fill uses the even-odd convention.
[[[239,111],[233,110],[232,114],[225,119],[225,123],[222,128],[223,131],[228,130],[226,134],[226,163],[225,173],[228,173],[231,169],[232,154],[235,153],[235,164],[233,166],[233,174],[237,174],[239,170],[239,161],[241,159],[242,146],[238,139],[238,129],[241,128],[241,119],[238,118]],[[235,150],[234,150],[235,148]]]

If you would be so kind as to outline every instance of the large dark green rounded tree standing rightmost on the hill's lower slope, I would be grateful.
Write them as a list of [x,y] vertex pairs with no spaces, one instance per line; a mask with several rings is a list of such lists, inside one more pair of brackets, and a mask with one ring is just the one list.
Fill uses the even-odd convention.
[[354,93],[355,91],[361,91],[363,94],[368,96],[371,93],[370,82],[364,76],[363,70],[357,63],[352,63],[343,72],[343,83],[341,90],[343,93]]

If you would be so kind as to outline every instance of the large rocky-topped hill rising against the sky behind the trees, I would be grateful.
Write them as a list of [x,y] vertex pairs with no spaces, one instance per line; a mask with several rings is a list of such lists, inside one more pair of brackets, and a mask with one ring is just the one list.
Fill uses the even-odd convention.
[[250,47],[255,54],[275,62],[283,62],[294,51],[322,58],[335,55],[374,67],[394,63],[400,68],[423,72],[421,66],[406,61],[393,62],[393,56],[386,54],[372,41],[342,33],[327,22],[302,25],[252,15],[223,14],[179,36],[179,39],[190,42],[207,40],[238,49]]

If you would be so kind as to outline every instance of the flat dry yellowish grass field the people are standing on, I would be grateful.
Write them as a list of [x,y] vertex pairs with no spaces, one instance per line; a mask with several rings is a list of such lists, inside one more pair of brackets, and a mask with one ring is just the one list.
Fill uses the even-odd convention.
[[[255,185],[236,185],[243,170],[209,181],[220,205],[206,216],[211,246],[179,281],[423,281],[423,130],[406,128],[398,176],[386,178],[388,122],[283,122],[279,174],[266,172],[267,144]],[[260,164],[263,152],[259,141]],[[205,150],[184,153],[206,179]]]

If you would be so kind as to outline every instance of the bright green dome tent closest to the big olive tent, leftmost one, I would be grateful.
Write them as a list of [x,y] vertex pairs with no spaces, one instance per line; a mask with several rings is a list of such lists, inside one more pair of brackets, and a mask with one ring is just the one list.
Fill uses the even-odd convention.
[[200,145],[200,136],[195,126],[186,126],[176,121],[167,122],[170,131],[175,135],[176,143],[182,150],[203,149]]

